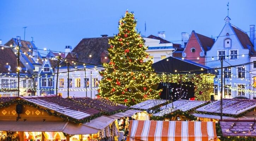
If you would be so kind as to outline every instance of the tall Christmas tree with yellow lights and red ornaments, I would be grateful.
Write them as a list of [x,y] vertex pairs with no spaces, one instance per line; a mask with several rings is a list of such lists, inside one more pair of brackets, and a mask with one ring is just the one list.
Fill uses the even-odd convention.
[[119,20],[119,33],[109,39],[109,63],[100,82],[98,97],[127,106],[147,99],[158,99],[161,90],[156,90],[159,78],[151,68],[145,52],[147,47],[136,30],[134,14],[126,11]]

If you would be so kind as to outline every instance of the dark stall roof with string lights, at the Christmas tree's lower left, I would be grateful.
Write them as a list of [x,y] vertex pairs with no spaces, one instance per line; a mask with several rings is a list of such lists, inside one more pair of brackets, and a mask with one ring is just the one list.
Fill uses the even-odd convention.
[[90,108],[94,108],[102,112],[107,112],[109,114],[120,110],[126,110],[128,108],[127,106],[116,104],[110,102],[109,100],[99,98],[92,99],[89,97],[74,97],[71,98],[71,100],[89,106]]

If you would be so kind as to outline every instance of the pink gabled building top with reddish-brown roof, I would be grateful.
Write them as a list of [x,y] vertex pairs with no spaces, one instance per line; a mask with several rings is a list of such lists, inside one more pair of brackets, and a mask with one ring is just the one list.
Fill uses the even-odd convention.
[[214,39],[198,34],[193,30],[183,50],[182,57],[184,59],[206,65],[206,51],[213,46],[213,43]]

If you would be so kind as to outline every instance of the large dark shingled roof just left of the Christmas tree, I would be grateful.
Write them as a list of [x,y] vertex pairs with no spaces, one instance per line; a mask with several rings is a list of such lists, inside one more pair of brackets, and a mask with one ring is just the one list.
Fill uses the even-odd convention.
[[73,59],[76,57],[79,62],[101,65],[100,55],[110,47],[110,38],[113,37],[83,38],[67,57],[70,55]]

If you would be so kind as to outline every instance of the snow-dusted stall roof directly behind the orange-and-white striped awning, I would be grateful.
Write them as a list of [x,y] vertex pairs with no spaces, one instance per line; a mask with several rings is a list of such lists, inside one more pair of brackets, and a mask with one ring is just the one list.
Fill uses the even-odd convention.
[[[155,113],[153,116],[163,116],[165,114],[170,114],[171,112],[174,112],[177,110],[186,112],[206,103],[207,103],[206,101],[197,101],[197,100],[177,100],[173,103],[163,105],[160,108],[160,111]],[[172,104],[174,109],[172,108]]]

